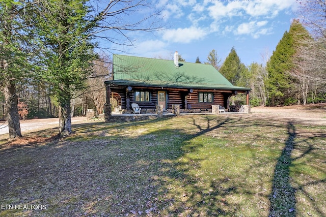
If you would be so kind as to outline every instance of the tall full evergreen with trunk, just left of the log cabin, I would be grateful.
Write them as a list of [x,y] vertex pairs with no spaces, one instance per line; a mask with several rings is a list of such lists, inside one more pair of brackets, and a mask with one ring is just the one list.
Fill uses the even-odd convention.
[[59,134],[71,134],[70,101],[73,93],[84,87],[91,73],[95,44],[91,43],[89,8],[79,0],[44,0],[38,5],[37,29],[44,42],[44,77],[53,85],[60,105]]

